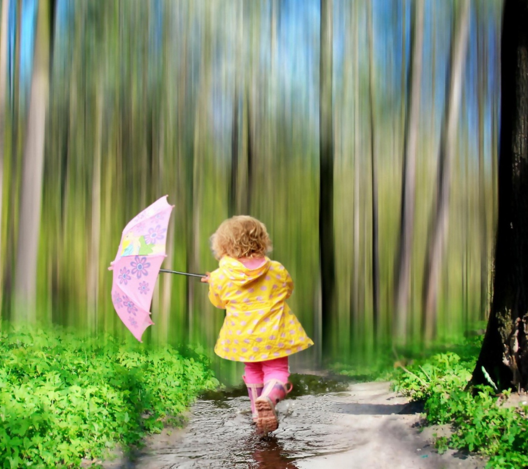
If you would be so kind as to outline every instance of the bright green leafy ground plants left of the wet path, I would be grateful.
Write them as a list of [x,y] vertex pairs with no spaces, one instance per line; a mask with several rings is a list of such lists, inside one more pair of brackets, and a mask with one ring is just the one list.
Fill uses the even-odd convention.
[[78,467],[117,442],[140,445],[213,389],[205,358],[111,336],[4,328],[0,467]]

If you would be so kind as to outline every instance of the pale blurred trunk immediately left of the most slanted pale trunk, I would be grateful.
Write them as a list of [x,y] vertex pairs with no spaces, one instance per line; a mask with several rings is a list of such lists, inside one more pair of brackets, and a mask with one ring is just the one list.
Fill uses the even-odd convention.
[[395,339],[405,342],[409,308],[409,283],[414,231],[414,192],[416,188],[416,152],[420,118],[420,94],[423,49],[423,2],[413,0],[411,16],[410,73],[407,76],[407,106],[403,140],[400,240],[394,273]]

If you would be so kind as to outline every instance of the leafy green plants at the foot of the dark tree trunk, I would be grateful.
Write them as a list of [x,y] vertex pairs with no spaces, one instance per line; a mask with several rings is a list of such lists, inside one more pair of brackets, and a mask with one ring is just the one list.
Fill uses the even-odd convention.
[[495,469],[528,467],[528,406],[503,405],[491,386],[466,390],[476,358],[447,352],[412,363],[398,371],[394,389],[425,401],[428,424],[451,425],[451,435],[437,439],[439,451],[480,452]]

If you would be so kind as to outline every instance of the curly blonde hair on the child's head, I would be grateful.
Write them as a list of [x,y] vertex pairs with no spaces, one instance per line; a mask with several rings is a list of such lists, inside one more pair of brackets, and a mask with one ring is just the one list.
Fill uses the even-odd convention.
[[271,251],[271,240],[266,225],[257,218],[237,215],[220,224],[211,236],[211,249],[216,259],[262,257]]

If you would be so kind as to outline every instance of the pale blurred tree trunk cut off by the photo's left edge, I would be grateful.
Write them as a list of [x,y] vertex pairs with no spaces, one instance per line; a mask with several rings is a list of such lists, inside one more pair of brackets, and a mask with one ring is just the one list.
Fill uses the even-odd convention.
[[[5,121],[6,121],[6,94],[7,94],[7,27],[9,14],[9,0],[2,2],[2,16],[0,18],[0,258],[4,259],[2,250],[2,205],[4,202],[4,147],[5,147]],[[0,264],[0,285],[2,285],[2,265]],[[2,317],[2,289],[0,288],[0,318]]]

